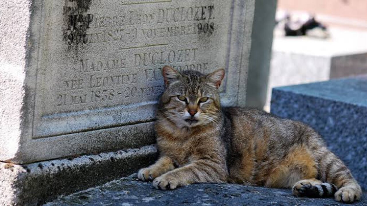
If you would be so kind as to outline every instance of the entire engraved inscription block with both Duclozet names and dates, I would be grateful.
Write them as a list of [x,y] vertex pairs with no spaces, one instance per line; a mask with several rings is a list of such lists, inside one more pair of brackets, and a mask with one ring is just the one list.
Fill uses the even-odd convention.
[[[57,80],[59,92],[53,99],[59,111],[69,110],[70,105],[84,104],[78,108],[91,109],[156,99],[164,91],[161,67],[167,64],[179,71],[209,70],[208,58],[201,58],[206,55],[204,48],[175,48],[174,43],[183,36],[211,38],[220,20],[214,1],[161,4],[147,11],[132,3],[117,14],[91,9],[93,3],[65,2],[64,41],[74,53],[68,56],[68,67],[62,68],[65,78]],[[89,49],[92,47],[114,52],[106,58]]]

